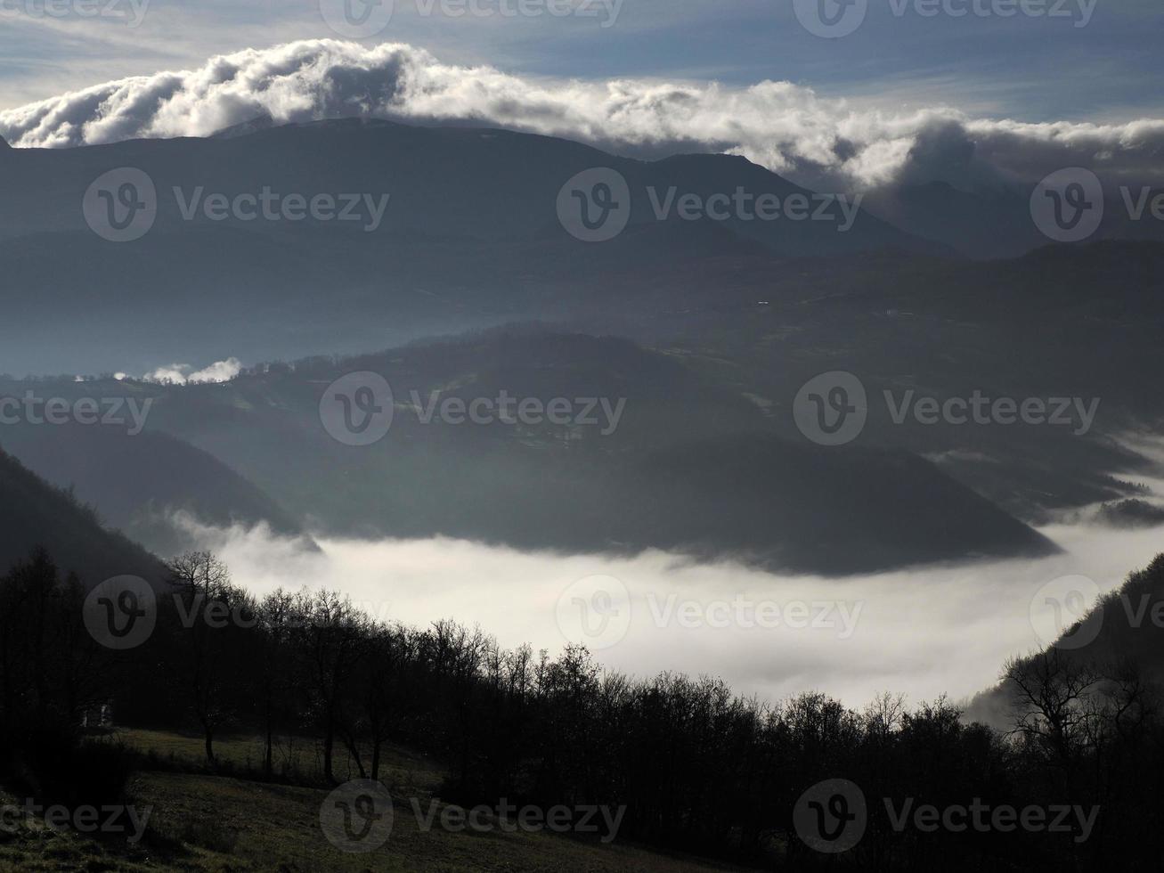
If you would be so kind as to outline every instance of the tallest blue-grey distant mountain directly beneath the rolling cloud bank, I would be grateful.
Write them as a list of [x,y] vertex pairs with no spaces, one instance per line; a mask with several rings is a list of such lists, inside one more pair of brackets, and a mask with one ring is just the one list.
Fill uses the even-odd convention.
[[[236,134],[6,152],[0,371],[146,371],[163,356],[219,359],[243,350],[250,360],[355,353],[553,318],[563,307],[548,289],[601,285],[627,270],[712,257],[772,262],[886,247],[944,250],[865,212],[854,213],[844,232],[836,221],[812,220],[812,192],[725,155],[643,162],[553,137],[359,120]],[[631,218],[615,240],[584,243],[560,223],[558,198],[572,177],[596,166],[625,177]],[[88,186],[118,168],[148,173],[158,201],[151,229],[120,244],[93,233],[80,210]],[[681,217],[683,197],[737,190],[753,199],[802,198],[809,214],[771,221]],[[211,198],[234,201],[264,191],[306,201],[354,194],[364,218],[217,220],[203,208]],[[384,196],[382,220],[374,223],[368,200],[375,206]],[[655,217],[652,199],[670,204],[666,220]],[[831,213],[843,218],[837,206]],[[62,258],[63,250],[73,256]],[[575,299],[580,292],[575,288]],[[38,326],[62,307],[85,328],[56,325],[54,345],[69,353],[47,360],[48,336]],[[265,329],[256,334],[249,325],[260,320]],[[140,341],[132,349],[102,341],[118,331]]]

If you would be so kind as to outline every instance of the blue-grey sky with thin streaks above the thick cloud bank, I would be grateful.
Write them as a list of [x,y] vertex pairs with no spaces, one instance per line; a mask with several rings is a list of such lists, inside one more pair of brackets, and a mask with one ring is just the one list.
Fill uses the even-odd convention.
[[[349,36],[326,20],[345,1],[363,2],[0,0],[0,109],[241,49]],[[1164,93],[1148,86],[1164,73],[1158,0],[381,1],[391,17],[365,45],[404,42],[525,77],[790,81],[894,109],[950,105],[1034,122],[1164,118]],[[561,3],[581,8],[551,14]],[[851,16],[839,19],[844,35],[811,33],[818,3]]]

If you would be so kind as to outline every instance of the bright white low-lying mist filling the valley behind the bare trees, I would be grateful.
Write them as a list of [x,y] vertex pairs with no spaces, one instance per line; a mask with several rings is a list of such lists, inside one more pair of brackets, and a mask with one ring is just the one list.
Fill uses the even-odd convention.
[[[633,675],[709,674],[772,701],[821,690],[853,707],[880,691],[964,700],[993,684],[1008,656],[1050,641],[1035,627],[1046,637],[1062,604],[1044,585],[1086,576],[1106,592],[1164,552],[1164,527],[1055,525],[1041,528],[1064,549],[1050,558],[823,579],[659,552],[528,554],[448,539],[321,539],[314,552],[262,527],[180,523],[257,595],[326,587],[385,620],[453,618],[505,647],[530,643],[551,653],[587,643],[605,667]],[[591,608],[594,636],[581,631],[580,604]]]

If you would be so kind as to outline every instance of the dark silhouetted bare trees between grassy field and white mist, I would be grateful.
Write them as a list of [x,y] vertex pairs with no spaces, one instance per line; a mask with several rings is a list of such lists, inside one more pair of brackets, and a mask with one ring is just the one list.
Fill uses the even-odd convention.
[[[1164,576],[1164,561],[1151,572]],[[227,731],[265,738],[257,775],[268,779],[297,776],[281,737],[314,739],[334,782],[383,778],[386,745],[402,745],[447,762],[448,802],[625,807],[619,840],[765,867],[1157,870],[1164,859],[1164,718],[1128,662],[1056,651],[1013,662],[1015,730],[1001,733],[964,724],[944,700],[910,709],[886,695],[853,710],[814,693],[769,704],[714,679],[603,670],[577,646],[552,658],[452,622],[375,620],[336,592],[256,598],[206,553],[172,561],[170,587],[148,641],[115,653],[87,637],[83,591],[47,555],[0,580],[6,748],[40,731],[80,747],[85,707],[113,697],[119,723],[200,730],[211,767]],[[19,766],[9,759],[7,772]],[[830,779],[859,786],[868,808],[864,837],[840,856],[807,845],[794,819],[805,789]],[[895,824],[907,803],[974,802],[1098,811],[1093,826],[1072,815],[1057,832]]]

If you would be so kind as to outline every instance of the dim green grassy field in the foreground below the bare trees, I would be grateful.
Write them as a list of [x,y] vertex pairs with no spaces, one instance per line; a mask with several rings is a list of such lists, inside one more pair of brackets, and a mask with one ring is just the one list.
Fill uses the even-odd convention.
[[[349,854],[335,849],[320,826],[327,790],[249,781],[205,772],[201,739],[155,731],[120,731],[116,741],[148,755],[130,783],[141,810],[152,808],[149,833],[137,845],[101,843],[71,830],[26,821],[0,829],[0,871],[545,871],[546,873],[696,873],[724,871],[680,857],[613,843],[602,845],[548,832],[481,833],[425,830],[411,803],[425,810],[443,773],[434,762],[404,750],[390,750],[383,781],[393,799],[391,836],[374,852]],[[217,744],[225,771],[241,773],[262,761],[257,738]],[[303,744],[281,750],[283,764],[310,776],[315,750]],[[340,767],[341,776],[350,762]],[[278,765],[277,765],[278,766]],[[357,776],[355,772],[352,778]],[[5,803],[15,799],[2,797]],[[438,803],[438,809],[445,804]]]

